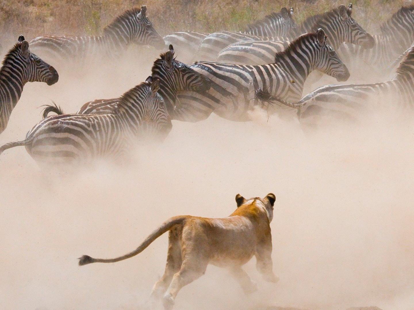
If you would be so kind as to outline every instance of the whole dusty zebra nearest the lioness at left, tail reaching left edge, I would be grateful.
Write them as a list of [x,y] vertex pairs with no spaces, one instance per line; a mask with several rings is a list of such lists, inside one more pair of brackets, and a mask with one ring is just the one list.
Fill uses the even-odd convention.
[[63,114],[41,120],[24,141],[0,147],[0,154],[15,146],[25,146],[40,164],[89,163],[103,157],[123,155],[143,121],[152,122],[161,139],[171,130],[164,100],[157,93],[159,80],[151,76],[124,93],[112,113]]

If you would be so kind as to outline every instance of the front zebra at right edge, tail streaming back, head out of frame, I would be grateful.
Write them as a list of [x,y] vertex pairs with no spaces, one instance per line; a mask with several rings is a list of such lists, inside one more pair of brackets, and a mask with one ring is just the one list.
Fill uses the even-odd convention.
[[323,117],[358,122],[361,112],[369,112],[385,104],[412,112],[414,107],[414,45],[409,48],[395,76],[390,81],[373,84],[327,85],[316,89],[297,102],[289,102],[279,96],[273,96],[270,100],[298,109],[300,121],[308,124],[317,122]]

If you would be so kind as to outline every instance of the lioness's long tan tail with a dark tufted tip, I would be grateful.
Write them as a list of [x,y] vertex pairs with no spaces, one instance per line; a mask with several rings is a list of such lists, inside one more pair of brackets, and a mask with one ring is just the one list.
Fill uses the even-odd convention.
[[87,265],[92,262],[119,262],[120,260],[126,260],[127,258],[131,258],[132,256],[135,256],[139,253],[141,253],[143,250],[145,250],[156,238],[164,234],[165,232],[169,231],[171,228],[173,228],[177,224],[182,224],[185,220],[184,216],[176,216],[171,217],[166,222],[161,224],[160,227],[155,229],[152,234],[150,234],[144,242],[138,246],[135,250],[132,252],[125,254],[123,256],[119,256],[117,258],[110,258],[110,259],[103,259],[103,258],[91,258],[88,255],[83,255],[79,258],[79,266]]

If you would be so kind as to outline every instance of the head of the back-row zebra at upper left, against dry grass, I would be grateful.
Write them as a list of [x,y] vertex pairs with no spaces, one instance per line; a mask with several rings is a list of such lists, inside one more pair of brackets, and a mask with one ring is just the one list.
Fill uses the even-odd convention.
[[135,27],[132,36],[132,43],[151,45],[161,50],[165,47],[164,39],[154,29],[147,15],[147,6],[143,5],[139,12],[135,14]]

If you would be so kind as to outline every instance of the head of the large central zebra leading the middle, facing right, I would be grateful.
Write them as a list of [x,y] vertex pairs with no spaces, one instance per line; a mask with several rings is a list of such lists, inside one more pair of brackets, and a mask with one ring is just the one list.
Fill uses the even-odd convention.
[[315,69],[333,76],[338,82],[344,82],[349,79],[347,66],[339,59],[335,50],[327,43],[327,36],[323,29],[318,29],[315,36],[314,46],[316,48]]

